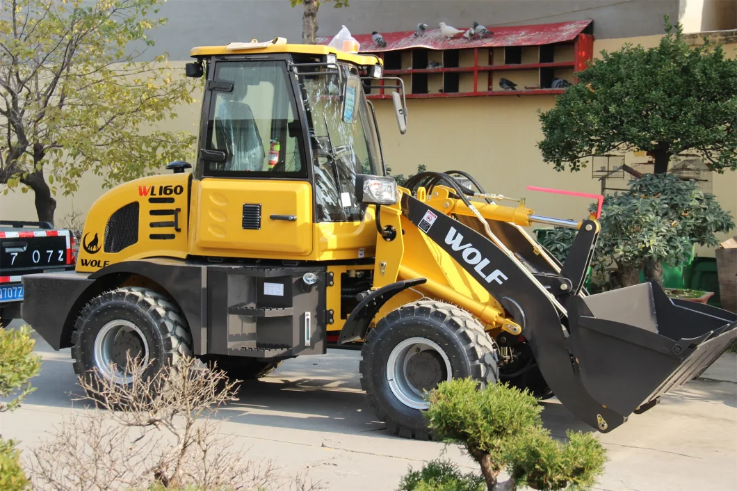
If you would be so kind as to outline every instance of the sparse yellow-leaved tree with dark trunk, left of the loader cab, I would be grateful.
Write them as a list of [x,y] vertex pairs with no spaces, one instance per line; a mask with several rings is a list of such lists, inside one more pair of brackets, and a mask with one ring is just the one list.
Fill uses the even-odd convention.
[[0,183],[31,189],[39,220],[87,171],[111,187],[189,153],[194,136],[156,129],[194,88],[148,53],[163,1],[2,0]]

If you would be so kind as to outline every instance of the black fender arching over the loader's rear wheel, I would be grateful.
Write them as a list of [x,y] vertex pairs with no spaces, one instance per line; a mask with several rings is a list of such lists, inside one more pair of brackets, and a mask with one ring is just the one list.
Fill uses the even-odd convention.
[[189,330],[195,355],[207,353],[207,266],[169,257],[116,262],[95,271],[89,279],[112,274],[138,274],[161,285],[179,305]]

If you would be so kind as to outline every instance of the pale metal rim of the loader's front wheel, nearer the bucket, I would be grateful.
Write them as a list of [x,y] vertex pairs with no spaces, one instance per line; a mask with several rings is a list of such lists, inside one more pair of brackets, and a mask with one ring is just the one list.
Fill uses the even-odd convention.
[[450,380],[450,359],[439,345],[426,338],[408,338],[397,344],[386,363],[386,378],[394,397],[413,409],[427,409],[424,391]]

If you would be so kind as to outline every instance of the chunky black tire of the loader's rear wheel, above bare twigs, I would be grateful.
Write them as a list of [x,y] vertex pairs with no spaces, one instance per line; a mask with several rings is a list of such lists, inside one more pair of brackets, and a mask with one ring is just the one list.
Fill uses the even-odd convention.
[[136,304],[156,320],[156,327],[164,341],[164,355],[169,358],[172,365],[178,363],[184,356],[192,356],[192,335],[186,327],[184,314],[175,304],[172,304],[170,299],[147,288],[122,287],[95,297],[85,305],[77,317],[74,332],[71,333],[71,358],[74,360],[74,373],[77,375],[85,373],[85,368],[77,357],[77,347],[80,345],[80,332],[86,318],[95,307],[116,301]]

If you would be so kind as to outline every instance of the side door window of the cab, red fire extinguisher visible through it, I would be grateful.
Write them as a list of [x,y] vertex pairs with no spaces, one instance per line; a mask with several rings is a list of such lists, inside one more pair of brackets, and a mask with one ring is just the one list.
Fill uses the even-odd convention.
[[301,125],[283,61],[220,61],[215,82],[233,84],[213,91],[204,147],[225,153],[206,161],[204,175],[306,178]]

